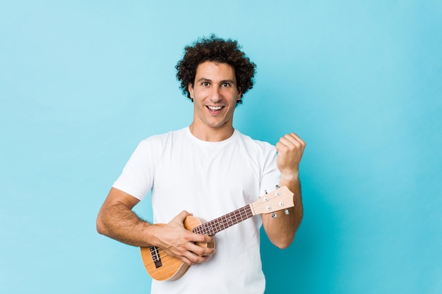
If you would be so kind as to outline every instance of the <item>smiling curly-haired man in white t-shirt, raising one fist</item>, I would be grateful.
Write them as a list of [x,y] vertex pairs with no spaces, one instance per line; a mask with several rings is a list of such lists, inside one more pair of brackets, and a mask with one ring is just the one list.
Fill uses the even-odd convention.
[[[158,247],[191,265],[177,281],[153,281],[152,293],[263,293],[261,224],[277,247],[294,239],[302,218],[299,161],[305,143],[289,133],[273,146],[252,140],[232,124],[235,107],[253,87],[255,68],[230,39],[211,36],[186,47],[177,78],[193,102],[193,122],[143,140],[100,209],[99,233],[133,246]],[[254,202],[276,185],[294,193],[289,214],[254,216],[215,237],[184,228],[189,212],[209,221]],[[164,226],[132,212],[149,190],[154,222]],[[195,244],[214,238],[216,249]]]

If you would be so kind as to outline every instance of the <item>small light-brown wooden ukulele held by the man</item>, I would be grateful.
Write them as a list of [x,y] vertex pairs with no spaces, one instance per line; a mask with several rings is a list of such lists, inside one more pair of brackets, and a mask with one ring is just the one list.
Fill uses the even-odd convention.
[[[273,192],[266,193],[262,197],[259,197],[258,200],[251,204],[247,204],[234,212],[230,212],[206,223],[203,223],[201,219],[195,216],[187,216],[184,220],[184,227],[193,233],[213,236],[225,228],[245,221],[256,214],[270,214],[282,209],[286,209],[285,213],[288,214],[289,211],[287,208],[289,207],[294,207],[293,193],[290,192],[287,186],[282,186]],[[276,214],[273,214],[273,217],[276,217]],[[162,226],[164,224],[160,223],[157,225]],[[196,243],[196,245],[214,248],[215,242]],[[181,262],[181,260],[167,255],[161,248],[152,246],[141,247],[140,249],[141,258],[143,259],[146,271],[157,281],[177,280],[186,274],[186,271],[190,267],[184,262]]]

